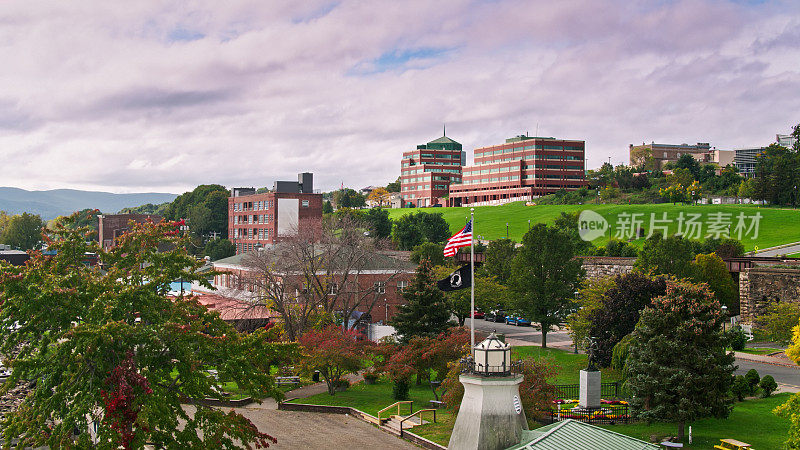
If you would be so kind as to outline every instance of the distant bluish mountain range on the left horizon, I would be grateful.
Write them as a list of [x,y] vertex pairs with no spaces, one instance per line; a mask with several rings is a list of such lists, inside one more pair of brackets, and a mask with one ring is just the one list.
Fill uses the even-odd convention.
[[44,220],[50,220],[86,208],[96,208],[106,214],[114,214],[122,208],[147,203],[171,202],[175,200],[175,197],[177,197],[176,194],[159,192],[113,194],[75,189],[26,191],[25,189],[0,187],[0,210],[8,214],[28,212],[38,214]]

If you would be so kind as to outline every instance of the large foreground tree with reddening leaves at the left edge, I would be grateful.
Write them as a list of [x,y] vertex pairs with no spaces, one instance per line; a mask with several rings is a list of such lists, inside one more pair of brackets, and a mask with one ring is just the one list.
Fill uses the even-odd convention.
[[[176,223],[138,225],[109,251],[84,232],[59,223],[54,255],[0,265],[0,322],[17,324],[0,327],[0,352],[13,369],[7,386],[36,380],[5,415],[5,441],[89,448],[89,433],[74,432],[94,424],[104,448],[274,442],[241,414],[200,402],[187,414],[183,403],[214,397],[227,382],[254,398],[280,398],[269,373],[293,346],[268,343],[264,331],[239,334],[194,298],[167,296],[178,278],[210,287]],[[174,250],[159,252],[159,244]],[[104,270],[84,265],[85,252],[98,253]]]

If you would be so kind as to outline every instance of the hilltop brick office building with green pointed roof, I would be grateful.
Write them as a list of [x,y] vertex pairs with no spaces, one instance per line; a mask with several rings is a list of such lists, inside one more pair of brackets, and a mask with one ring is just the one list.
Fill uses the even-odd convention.
[[403,206],[442,204],[451,183],[461,182],[466,153],[461,144],[442,136],[403,153],[400,163],[400,195]]

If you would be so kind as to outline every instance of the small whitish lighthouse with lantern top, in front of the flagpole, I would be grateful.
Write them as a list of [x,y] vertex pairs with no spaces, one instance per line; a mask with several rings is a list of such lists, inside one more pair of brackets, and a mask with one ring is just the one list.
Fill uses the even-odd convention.
[[494,333],[461,360],[464,398],[456,417],[450,450],[500,450],[517,445],[528,429],[519,398],[522,362],[511,361],[511,346]]

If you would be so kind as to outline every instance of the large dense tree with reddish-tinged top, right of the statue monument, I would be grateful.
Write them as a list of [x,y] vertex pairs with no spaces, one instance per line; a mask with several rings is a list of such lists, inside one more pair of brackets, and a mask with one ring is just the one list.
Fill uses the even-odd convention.
[[727,417],[734,357],[726,353],[719,302],[704,286],[667,282],[666,294],[642,311],[627,358],[634,416],[684,426]]

